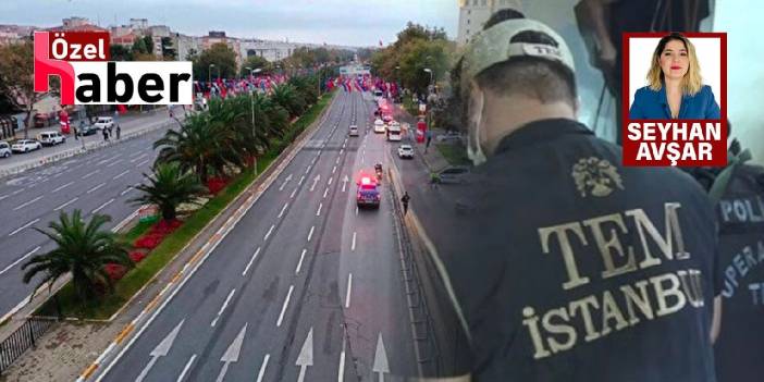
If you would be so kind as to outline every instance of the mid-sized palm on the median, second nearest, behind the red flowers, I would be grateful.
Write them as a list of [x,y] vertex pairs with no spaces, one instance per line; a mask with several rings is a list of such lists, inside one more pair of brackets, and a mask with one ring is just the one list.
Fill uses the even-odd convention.
[[177,206],[184,202],[196,202],[196,197],[206,189],[196,175],[184,171],[180,163],[159,163],[150,176],[144,174],[149,184],[141,184],[136,189],[143,195],[130,199],[136,205],[156,205],[162,212],[162,219],[174,220]]

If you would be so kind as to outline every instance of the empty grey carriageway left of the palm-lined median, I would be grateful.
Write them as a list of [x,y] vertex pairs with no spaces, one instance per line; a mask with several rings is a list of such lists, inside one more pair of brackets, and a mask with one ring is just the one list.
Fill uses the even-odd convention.
[[53,249],[34,227],[47,229],[61,211],[97,212],[112,218],[108,229],[133,213],[127,204],[156,157],[151,148],[165,128],[123,144],[34,169],[0,183],[0,317],[24,303],[36,282],[23,284],[21,266]]

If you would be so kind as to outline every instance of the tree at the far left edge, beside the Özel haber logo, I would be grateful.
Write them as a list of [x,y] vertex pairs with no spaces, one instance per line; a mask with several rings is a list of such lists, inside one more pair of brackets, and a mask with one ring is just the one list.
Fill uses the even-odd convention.
[[[3,97],[14,109],[26,112],[24,138],[29,137],[35,103],[45,96],[35,91],[34,71],[32,40],[0,46],[0,97]],[[51,90],[56,91],[53,86]]]

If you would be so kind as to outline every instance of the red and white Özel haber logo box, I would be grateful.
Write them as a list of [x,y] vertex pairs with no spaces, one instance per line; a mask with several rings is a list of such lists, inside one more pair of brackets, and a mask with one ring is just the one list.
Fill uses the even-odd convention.
[[61,79],[61,104],[190,104],[190,61],[109,61],[109,33],[35,32],[35,91]]

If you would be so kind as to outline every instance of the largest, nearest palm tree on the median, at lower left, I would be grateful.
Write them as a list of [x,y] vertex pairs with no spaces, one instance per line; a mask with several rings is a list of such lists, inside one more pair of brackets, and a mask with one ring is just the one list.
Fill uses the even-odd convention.
[[[74,210],[71,217],[61,211],[59,221],[48,224],[50,232],[35,229],[52,239],[57,248],[34,256],[22,266],[22,270],[26,270],[23,278],[25,284],[38,273],[45,274],[32,296],[45,283],[48,283],[50,292],[56,281],[67,273],[72,274],[72,285],[81,303],[88,301],[100,285],[106,285],[112,291],[112,280],[103,267],[116,263],[130,268],[133,267],[133,261],[127,255],[128,246],[119,242],[111,231],[101,230],[110,220],[108,215],[95,214],[85,223],[82,211]],[[56,299],[56,296],[53,298]],[[58,300],[56,304],[58,307]]]

